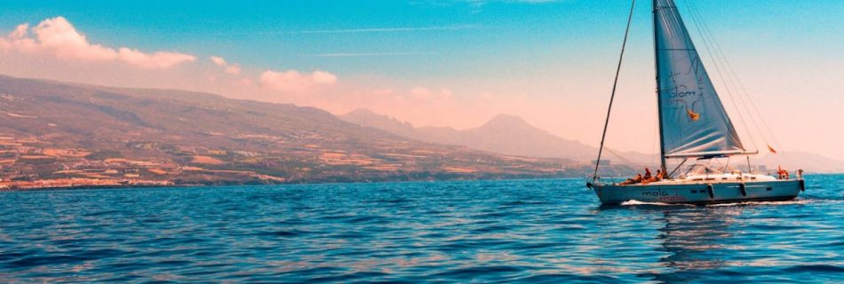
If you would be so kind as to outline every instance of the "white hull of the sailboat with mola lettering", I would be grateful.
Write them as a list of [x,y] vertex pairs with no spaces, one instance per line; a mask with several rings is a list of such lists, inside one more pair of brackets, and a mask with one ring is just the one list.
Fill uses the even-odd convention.
[[603,204],[625,201],[713,204],[742,201],[788,201],[803,190],[799,179],[745,183],[593,185]]

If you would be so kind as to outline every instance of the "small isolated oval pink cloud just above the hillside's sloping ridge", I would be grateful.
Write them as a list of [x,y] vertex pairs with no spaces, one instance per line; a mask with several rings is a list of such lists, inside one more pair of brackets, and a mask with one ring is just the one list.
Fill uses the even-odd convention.
[[304,92],[315,87],[331,86],[337,83],[337,75],[316,70],[311,74],[302,74],[296,70],[284,72],[265,71],[260,75],[261,86],[265,89],[284,92]]

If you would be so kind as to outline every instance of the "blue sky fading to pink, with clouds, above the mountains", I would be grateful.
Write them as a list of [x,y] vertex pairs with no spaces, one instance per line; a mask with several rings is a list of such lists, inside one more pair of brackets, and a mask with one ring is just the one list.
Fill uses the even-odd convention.
[[[745,141],[844,160],[844,2],[678,0],[697,12],[758,107]],[[365,107],[468,129],[519,115],[562,138],[601,138],[630,1],[12,1],[0,74],[230,98]],[[635,6],[607,145],[652,153],[650,1]],[[725,68],[726,69],[726,68]],[[747,119],[745,117],[745,119]],[[760,134],[760,132],[762,132]],[[745,144],[751,144],[745,142]]]

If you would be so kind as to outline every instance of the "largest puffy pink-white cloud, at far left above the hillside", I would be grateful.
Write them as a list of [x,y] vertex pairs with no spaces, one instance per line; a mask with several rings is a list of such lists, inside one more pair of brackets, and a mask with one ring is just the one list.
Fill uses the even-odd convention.
[[5,37],[0,37],[0,49],[26,53],[41,52],[57,59],[82,61],[116,61],[143,68],[167,68],[196,57],[190,54],[169,51],[146,53],[128,47],[114,49],[92,44],[64,17],[42,20],[31,28],[21,24]]

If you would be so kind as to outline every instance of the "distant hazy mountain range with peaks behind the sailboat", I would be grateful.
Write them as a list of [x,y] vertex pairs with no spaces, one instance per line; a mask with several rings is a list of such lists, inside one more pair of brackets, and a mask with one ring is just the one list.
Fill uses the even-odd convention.
[[[338,117],[346,122],[385,130],[406,138],[443,145],[466,146],[492,153],[560,158],[583,163],[593,163],[589,161],[593,161],[598,153],[597,147],[587,146],[577,140],[560,138],[514,115],[499,114],[481,126],[468,130],[455,130],[448,127],[415,127],[410,122],[376,114],[365,108],[355,109]],[[604,154],[604,159],[612,163],[639,168],[655,167],[658,163],[653,154],[613,149],[607,149]],[[752,158],[752,162],[754,165],[764,165],[768,169],[776,169],[779,165],[783,165],[789,169],[800,168],[812,172],[844,172],[844,162],[805,152],[767,154]]]

